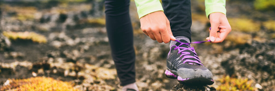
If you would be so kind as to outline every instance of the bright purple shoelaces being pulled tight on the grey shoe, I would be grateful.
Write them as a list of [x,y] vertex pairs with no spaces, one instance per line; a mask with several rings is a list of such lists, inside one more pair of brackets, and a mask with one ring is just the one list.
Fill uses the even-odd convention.
[[[176,41],[176,42],[180,42],[180,41],[178,41],[178,40],[175,40],[175,41]],[[197,43],[204,43],[204,42],[210,42],[210,40],[208,40],[208,41],[197,41],[197,42],[192,42],[192,43],[196,43],[196,44],[197,44]],[[180,55],[180,57],[183,56],[182,60],[183,60],[183,59],[186,59],[186,58],[194,58],[194,59],[196,59],[196,60],[186,59],[185,61],[183,61],[183,63],[186,63],[186,62],[194,62],[194,63],[200,64],[200,65],[203,66],[203,64],[200,63],[201,61],[200,61],[199,57],[197,56],[197,53],[195,52],[194,47],[191,47],[191,46],[189,45],[189,44],[192,44],[192,43],[182,43],[182,42],[180,42],[180,43],[181,43],[181,44],[178,45],[176,48],[174,48],[174,50],[178,49],[178,54],[182,53],[182,55]],[[189,46],[189,48],[179,47],[179,46],[181,46],[181,45],[187,45],[187,46]],[[194,52],[194,56],[189,55],[190,52],[183,52],[183,51],[185,51],[185,50],[189,50],[189,51]],[[196,55],[195,55],[195,54],[196,54]],[[199,62],[199,61],[200,61],[200,62]],[[188,63],[188,64],[193,64],[193,63]]]

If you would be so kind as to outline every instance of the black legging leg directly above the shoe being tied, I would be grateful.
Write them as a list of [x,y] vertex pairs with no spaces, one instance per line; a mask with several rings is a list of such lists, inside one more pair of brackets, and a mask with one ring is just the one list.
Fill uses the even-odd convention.
[[175,37],[186,36],[191,41],[191,1],[190,0],[162,0],[164,14],[170,21],[172,33]]

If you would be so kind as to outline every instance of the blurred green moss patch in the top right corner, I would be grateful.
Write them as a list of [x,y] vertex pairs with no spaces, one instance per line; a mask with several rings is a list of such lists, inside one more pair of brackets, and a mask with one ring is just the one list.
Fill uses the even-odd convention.
[[273,10],[275,8],[275,0],[255,0],[254,8],[256,10]]

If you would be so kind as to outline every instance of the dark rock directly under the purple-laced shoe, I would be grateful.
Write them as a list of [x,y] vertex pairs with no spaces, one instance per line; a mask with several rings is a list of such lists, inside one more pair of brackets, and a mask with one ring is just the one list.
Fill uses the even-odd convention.
[[184,84],[175,85],[170,91],[218,91],[215,87],[209,86],[191,86]]

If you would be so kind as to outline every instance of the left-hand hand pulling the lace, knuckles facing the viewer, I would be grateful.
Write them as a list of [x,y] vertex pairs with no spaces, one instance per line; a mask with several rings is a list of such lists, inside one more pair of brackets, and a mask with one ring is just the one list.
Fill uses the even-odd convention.
[[169,43],[176,40],[173,36],[170,22],[163,11],[156,11],[140,18],[141,30],[152,40],[159,43]]

